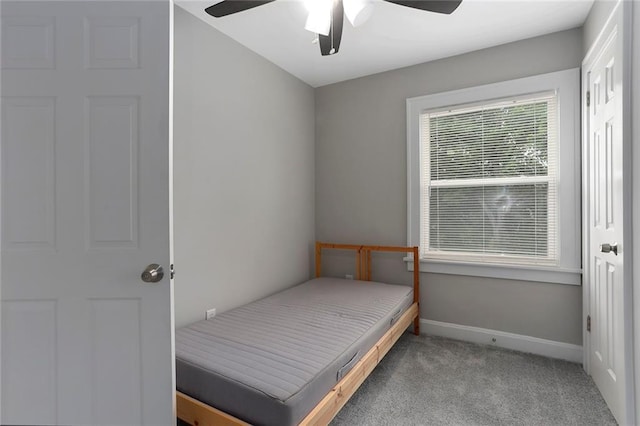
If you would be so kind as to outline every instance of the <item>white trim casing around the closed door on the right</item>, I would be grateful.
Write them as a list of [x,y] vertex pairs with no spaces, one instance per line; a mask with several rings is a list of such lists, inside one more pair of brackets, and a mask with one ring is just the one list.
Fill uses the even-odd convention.
[[[627,1],[618,0],[616,6],[612,10],[611,14],[607,18],[607,21],[602,27],[602,30],[598,34],[598,37],[590,46],[587,54],[582,61],[582,87],[581,87],[581,105],[582,105],[582,264],[583,264],[583,305],[582,305],[582,319],[583,319],[583,366],[588,374],[591,374],[591,334],[587,332],[586,323],[587,315],[590,310],[590,268],[588,268],[588,262],[590,259],[589,253],[589,150],[587,147],[587,135],[589,134],[589,112],[586,108],[587,98],[586,93],[589,89],[589,72],[593,67],[593,64],[599,56],[604,44],[607,42],[609,35],[617,25],[619,19],[618,14],[622,14],[620,22],[622,22],[622,31],[619,31],[619,36],[622,37],[623,45],[623,58],[622,58],[622,84],[623,87],[629,88],[623,91],[622,101],[622,145],[623,145],[623,226],[625,230],[631,230],[632,228],[632,139],[631,139],[631,59],[632,59],[632,3]],[[627,235],[630,233],[627,231]],[[635,365],[634,365],[634,328],[633,328],[633,244],[631,238],[625,237],[625,259],[623,265],[624,280],[623,280],[623,294],[624,294],[624,336],[627,345],[625,345],[625,373],[627,377],[635,377]],[[640,343],[640,342],[639,342]],[[637,378],[640,385],[640,377]],[[636,400],[635,400],[635,386],[634,380],[627,380],[625,382],[625,424],[635,424],[636,419]],[[639,407],[640,408],[640,407]]]

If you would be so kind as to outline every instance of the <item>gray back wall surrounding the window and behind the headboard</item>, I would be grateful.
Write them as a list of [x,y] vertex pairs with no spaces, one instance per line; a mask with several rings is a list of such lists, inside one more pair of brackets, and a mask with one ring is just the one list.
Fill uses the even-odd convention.
[[[405,100],[579,67],[573,29],[316,89],[316,236],[332,242],[407,241]],[[343,255],[325,271],[351,273]],[[403,262],[374,262],[374,279],[409,283]],[[425,319],[582,344],[582,288],[422,274]]]

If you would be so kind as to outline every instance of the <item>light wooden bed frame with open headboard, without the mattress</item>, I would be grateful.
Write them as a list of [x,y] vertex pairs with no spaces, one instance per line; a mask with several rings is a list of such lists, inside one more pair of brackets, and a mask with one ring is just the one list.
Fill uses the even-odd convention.
[[[420,259],[418,257],[418,247],[364,246],[316,242],[316,277],[320,276],[322,270],[323,249],[354,250],[356,252],[356,279],[363,281],[371,281],[372,252],[412,253],[413,304],[391,329],[373,345],[369,352],[353,366],[351,371],[311,410],[307,417],[300,422],[300,425],[304,426],[329,424],[412,322],[414,334],[420,334],[420,311],[418,303],[420,300]],[[178,418],[194,426],[248,425],[248,423],[191,398],[182,392],[176,391],[176,406]]]

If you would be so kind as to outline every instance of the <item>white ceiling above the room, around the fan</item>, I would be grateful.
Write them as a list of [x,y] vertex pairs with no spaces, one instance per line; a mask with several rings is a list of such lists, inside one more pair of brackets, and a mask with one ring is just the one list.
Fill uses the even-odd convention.
[[[321,56],[302,0],[277,0],[214,18],[220,0],[176,4],[313,87],[581,26],[593,0],[463,0],[451,15],[372,0],[371,19],[345,19],[340,51]],[[206,48],[203,46],[203,48]]]

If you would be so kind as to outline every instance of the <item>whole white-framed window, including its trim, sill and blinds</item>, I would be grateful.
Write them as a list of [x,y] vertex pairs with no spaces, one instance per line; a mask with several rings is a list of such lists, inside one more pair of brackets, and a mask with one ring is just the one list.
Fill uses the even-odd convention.
[[427,271],[580,283],[578,96],[571,70],[407,101]]

